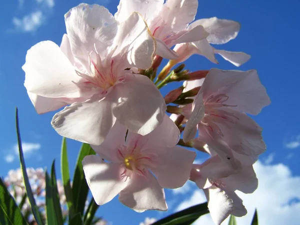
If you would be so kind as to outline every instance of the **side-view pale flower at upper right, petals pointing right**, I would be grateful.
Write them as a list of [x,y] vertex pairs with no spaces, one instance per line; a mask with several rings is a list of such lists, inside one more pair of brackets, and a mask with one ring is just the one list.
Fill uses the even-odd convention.
[[218,50],[210,45],[223,44],[234,39],[240,28],[238,22],[216,17],[203,18],[190,23],[187,30],[192,30],[198,25],[202,25],[209,35],[201,40],[176,44],[173,50],[179,55],[177,63],[186,60],[192,54],[203,55],[214,63],[218,63],[214,54],[219,54],[235,66],[240,66],[250,59],[250,55],[244,52]]

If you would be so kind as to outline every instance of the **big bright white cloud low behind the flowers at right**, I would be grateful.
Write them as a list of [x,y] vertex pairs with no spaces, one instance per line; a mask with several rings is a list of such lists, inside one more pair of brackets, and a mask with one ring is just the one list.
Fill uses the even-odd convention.
[[[247,215],[237,218],[237,224],[248,225],[254,209],[257,208],[260,225],[296,225],[300,220],[300,176],[293,176],[282,164],[264,164],[257,161],[254,169],[259,180],[257,190],[252,194],[238,192],[246,206]],[[201,190],[193,190],[191,197],[181,202],[177,210],[205,201]],[[213,224],[210,215],[201,216],[194,224]],[[225,220],[222,224],[228,224]]]

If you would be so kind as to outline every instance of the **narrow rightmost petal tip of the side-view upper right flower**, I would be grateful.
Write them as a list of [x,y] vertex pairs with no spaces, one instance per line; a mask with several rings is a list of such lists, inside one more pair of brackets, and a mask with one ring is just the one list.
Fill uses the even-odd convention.
[[226,51],[214,49],[214,53],[221,55],[235,66],[240,66],[250,59],[250,55],[241,51]]

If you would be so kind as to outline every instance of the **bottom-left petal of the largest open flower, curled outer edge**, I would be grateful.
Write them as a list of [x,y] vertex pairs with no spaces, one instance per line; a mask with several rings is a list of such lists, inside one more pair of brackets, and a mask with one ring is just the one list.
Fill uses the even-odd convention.
[[93,95],[84,102],[75,102],[57,112],[51,125],[62,136],[99,145],[115,122],[112,107],[114,98]]

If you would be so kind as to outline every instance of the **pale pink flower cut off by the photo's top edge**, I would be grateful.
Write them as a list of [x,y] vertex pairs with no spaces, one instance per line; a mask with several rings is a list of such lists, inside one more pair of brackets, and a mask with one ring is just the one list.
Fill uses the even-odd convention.
[[122,22],[132,12],[139,12],[156,39],[156,54],[168,59],[177,58],[169,49],[176,43],[185,43],[205,39],[208,33],[202,25],[187,29],[194,20],[198,0],[120,0],[118,11],[114,14]]

